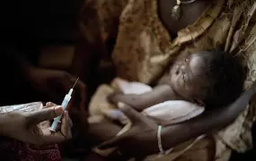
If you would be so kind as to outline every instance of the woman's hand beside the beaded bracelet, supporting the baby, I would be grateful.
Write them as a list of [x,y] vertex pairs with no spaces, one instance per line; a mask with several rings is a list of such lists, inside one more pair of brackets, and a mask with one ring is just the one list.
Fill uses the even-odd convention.
[[128,156],[146,156],[158,152],[157,124],[131,106],[123,103],[119,103],[118,106],[128,116],[133,126],[126,133],[102,143],[99,148],[118,147],[121,153]]

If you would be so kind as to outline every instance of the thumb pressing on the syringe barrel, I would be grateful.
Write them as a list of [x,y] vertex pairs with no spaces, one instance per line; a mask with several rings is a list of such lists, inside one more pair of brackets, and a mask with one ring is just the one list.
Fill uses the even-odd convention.
[[58,115],[63,114],[63,108],[61,106],[53,106],[49,108],[43,108],[39,111],[35,111],[26,115],[27,123],[41,123],[43,121],[51,120]]

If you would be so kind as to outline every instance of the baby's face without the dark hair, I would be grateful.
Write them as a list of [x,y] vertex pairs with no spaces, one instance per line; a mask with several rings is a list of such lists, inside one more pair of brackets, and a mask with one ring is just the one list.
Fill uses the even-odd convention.
[[188,100],[203,97],[203,87],[207,87],[205,58],[200,53],[184,54],[177,57],[170,71],[172,89]]

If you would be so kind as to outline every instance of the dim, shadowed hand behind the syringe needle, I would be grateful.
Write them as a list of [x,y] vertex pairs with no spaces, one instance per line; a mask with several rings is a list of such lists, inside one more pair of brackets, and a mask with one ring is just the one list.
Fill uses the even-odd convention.
[[[58,103],[61,103],[77,79],[67,72],[36,67],[30,67],[26,73],[27,80],[31,83],[32,89],[46,96],[48,100],[54,100],[54,102]],[[80,109],[83,109],[85,107],[86,92],[85,85],[82,81],[77,81],[75,92],[78,92],[80,95]]]

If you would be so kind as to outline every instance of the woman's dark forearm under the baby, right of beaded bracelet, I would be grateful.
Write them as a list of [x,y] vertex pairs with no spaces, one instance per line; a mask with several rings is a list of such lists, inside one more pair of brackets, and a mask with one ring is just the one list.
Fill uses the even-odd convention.
[[171,148],[177,144],[198,137],[201,134],[225,128],[233,123],[243,112],[255,93],[255,85],[245,91],[232,105],[202,114],[188,122],[163,128],[163,147]]

